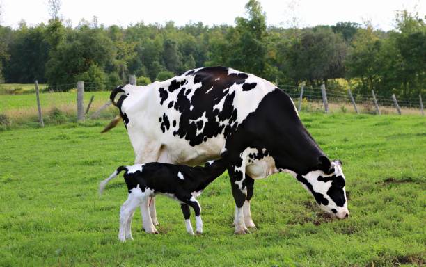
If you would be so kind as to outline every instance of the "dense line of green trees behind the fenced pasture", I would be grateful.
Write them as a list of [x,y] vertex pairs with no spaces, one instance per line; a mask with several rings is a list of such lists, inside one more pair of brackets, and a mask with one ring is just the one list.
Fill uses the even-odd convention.
[[[260,3],[246,4],[235,26],[138,23],[126,28],[61,19],[18,29],[0,26],[0,75],[6,83],[48,83],[72,88],[77,81],[111,89],[128,74],[139,84],[168,79],[195,67],[226,65],[278,84],[326,83],[357,93],[417,97],[426,84],[426,26],[401,11],[395,29],[339,22],[312,28],[267,27]],[[107,88],[108,87],[108,88]]]

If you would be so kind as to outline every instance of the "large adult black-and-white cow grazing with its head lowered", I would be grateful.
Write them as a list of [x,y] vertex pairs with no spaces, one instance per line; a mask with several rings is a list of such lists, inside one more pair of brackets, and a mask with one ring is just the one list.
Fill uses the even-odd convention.
[[[303,127],[292,99],[265,79],[204,67],[148,86],[119,86],[110,98],[120,109],[136,163],[226,160],[237,234],[255,227],[254,180],[280,171],[296,177],[327,213],[349,215],[341,166]],[[155,204],[150,213],[156,224]]]

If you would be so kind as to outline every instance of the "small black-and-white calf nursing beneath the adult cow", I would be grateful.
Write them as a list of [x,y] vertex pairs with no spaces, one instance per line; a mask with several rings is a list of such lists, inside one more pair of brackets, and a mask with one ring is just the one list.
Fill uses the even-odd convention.
[[196,197],[226,170],[226,165],[222,160],[218,160],[209,161],[204,167],[157,162],[120,166],[109,178],[100,183],[100,194],[108,182],[123,170],[129,197],[120,209],[120,232],[118,234],[120,241],[132,239],[132,218],[137,207],[141,207],[145,232],[158,234],[152,224],[148,209],[149,198],[157,193],[167,195],[180,202],[189,234],[194,234],[189,220],[189,207],[192,207],[196,215],[196,232],[202,233],[201,207]]

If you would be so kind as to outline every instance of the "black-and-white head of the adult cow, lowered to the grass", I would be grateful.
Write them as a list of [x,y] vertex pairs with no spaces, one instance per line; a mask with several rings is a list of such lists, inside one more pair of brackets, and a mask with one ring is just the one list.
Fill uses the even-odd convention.
[[342,162],[319,156],[318,170],[297,179],[313,194],[319,207],[339,219],[349,217]]

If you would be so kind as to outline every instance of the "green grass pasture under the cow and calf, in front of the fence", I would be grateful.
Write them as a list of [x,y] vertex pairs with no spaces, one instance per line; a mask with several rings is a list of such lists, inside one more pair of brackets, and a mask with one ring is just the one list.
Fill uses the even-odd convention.
[[[189,236],[179,204],[157,198],[159,235],[118,241],[123,179],[99,181],[134,156],[107,121],[0,132],[0,266],[423,266],[426,120],[420,116],[302,113],[347,177],[347,220],[330,220],[289,175],[255,183],[258,230],[235,236],[226,174],[199,198],[205,234]],[[194,223],[194,215],[191,217]]]

